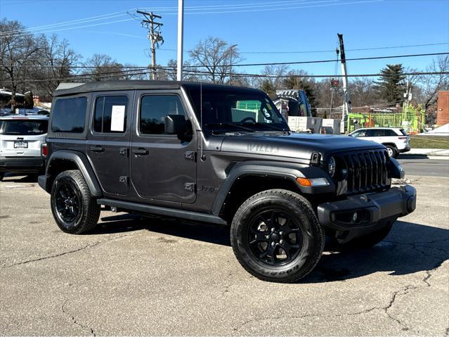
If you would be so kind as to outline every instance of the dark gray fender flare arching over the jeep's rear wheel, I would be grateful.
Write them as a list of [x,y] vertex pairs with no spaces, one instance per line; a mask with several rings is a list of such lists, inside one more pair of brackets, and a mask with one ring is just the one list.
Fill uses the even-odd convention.
[[55,151],[48,158],[46,166],[46,191],[50,193],[51,186],[58,174],[67,170],[79,170],[86,180],[92,196],[102,196],[100,184],[89,160],[84,153],[78,151]]

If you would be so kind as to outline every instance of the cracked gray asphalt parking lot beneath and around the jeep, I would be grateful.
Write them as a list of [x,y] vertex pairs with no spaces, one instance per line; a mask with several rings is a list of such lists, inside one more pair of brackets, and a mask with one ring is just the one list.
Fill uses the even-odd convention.
[[417,210],[385,241],[271,284],[240,267],[226,227],[103,212],[71,236],[36,182],[7,177],[0,334],[448,336],[449,179],[410,179]]

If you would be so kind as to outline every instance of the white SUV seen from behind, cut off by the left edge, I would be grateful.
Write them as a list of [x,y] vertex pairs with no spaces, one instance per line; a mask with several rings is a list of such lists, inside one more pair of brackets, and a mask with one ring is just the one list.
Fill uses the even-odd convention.
[[0,117],[0,180],[5,172],[33,174],[44,170],[41,145],[47,129],[47,116]]

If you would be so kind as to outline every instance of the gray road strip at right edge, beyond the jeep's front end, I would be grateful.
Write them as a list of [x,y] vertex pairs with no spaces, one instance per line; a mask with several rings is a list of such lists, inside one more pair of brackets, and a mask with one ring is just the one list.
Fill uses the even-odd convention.
[[449,177],[449,160],[447,159],[402,155],[398,160],[403,165],[406,176]]

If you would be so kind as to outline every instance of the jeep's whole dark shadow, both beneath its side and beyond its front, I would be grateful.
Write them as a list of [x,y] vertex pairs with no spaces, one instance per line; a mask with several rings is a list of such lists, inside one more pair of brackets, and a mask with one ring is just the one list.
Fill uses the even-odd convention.
[[[146,229],[161,234],[230,246],[228,226],[195,224],[138,215],[103,217],[92,234]],[[449,259],[449,230],[398,221],[384,241],[364,250],[328,252],[301,283],[345,281],[375,272],[414,274],[434,269]]]

